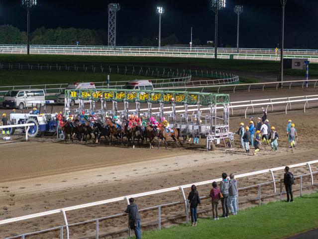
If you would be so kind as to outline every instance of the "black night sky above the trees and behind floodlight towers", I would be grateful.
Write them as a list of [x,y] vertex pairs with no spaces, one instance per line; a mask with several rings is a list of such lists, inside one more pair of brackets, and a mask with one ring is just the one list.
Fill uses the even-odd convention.
[[[208,0],[117,0],[121,9],[117,14],[117,45],[131,41],[132,37],[158,34],[159,16],[156,6],[165,7],[162,16],[162,37],[176,34],[180,42],[193,38],[204,43],[214,40],[214,12]],[[306,2],[306,4],[305,4]],[[276,47],[280,42],[280,0],[227,0],[219,14],[219,43],[236,45],[237,15],[233,8],[243,5],[240,15],[241,47]],[[318,31],[318,0],[287,0],[285,32]],[[107,30],[107,0],[38,0],[31,12],[31,30],[76,27]],[[19,0],[0,0],[0,24],[10,24],[26,30],[26,11]],[[287,43],[288,44],[288,43]],[[286,46],[288,47],[288,45]]]

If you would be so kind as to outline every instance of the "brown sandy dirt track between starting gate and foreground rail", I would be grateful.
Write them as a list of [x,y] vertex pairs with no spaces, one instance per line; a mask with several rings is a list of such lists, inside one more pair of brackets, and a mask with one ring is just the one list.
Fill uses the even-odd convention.
[[[316,92],[309,94],[313,93]],[[306,93],[297,92],[296,95]],[[268,119],[281,136],[279,152],[272,152],[270,146],[262,145],[256,156],[247,155],[242,149],[237,148],[237,137],[234,150],[226,152],[221,145],[214,152],[206,152],[205,139],[200,139],[199,146],[188,142],[183,148],[170,142],[168,150],[164,150],[164,147],[160,150],[149,150],[146,144],[135,149],[120,145],[109,147],[104,140],[100,145],[95,145],[91,141],[87,145],[78,142],[64,144],[50,138],[0,144],[0,220],[210,180],[219,178],[223,171],[239,174],[316,160],[317,118],[317,109],[309,109],[306,114],[293,111],[287,116],[269,112]],[[294,150],[290,149],[287,143],[288,119],[292,119],[296,124],[299,134],[298,145]],[[242,117],[230,119],[230,128],[233,132],[237,130],[237,125],[241,121],[248,122]],[[314,166],[313,171],[317,170],[318,167]],[[294,175],[303,172],[308,172],[308,169],[300,168]],[[275,176],[280,177],[282,173],[277,172]],[[241,179],[240,187],[266,181],[270,181],[270,175]],[[199,193],[208,194],[208,188],[210,186],[199,187]],[[137,203],[139,208],[145,208],[178,200],[182,200],[180,192],[172,192],[140,198],[137,199]],[[69,212],[69,223],[121,213],[124,209],[125,202],[119,202]],[[0,238],[59,225],[63,225],[61,215],[0,225]]]

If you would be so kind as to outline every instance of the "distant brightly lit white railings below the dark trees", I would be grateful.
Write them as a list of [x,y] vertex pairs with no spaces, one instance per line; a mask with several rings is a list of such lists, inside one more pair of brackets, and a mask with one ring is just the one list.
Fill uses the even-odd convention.
[[[19,53],[24,54],[24,45],[2,45],[0,53]],[[117,55],[117,56],[164,56],[164,57],[200,57],[212,58],[214,51],[212,48],[156,48],[156,47],[107,47],[107,46],[30,46],[30,52],[34,54],[71,54],[71,55]],[[258,59],[273,60],[279,58],[272,49],[249,49],[240,48],[240,53],[236,53],[235,48],[218,48],[218,57],[229,59]],[[284,50],[286,58],[309,58],[311,61],[318,62],[317,50]]]

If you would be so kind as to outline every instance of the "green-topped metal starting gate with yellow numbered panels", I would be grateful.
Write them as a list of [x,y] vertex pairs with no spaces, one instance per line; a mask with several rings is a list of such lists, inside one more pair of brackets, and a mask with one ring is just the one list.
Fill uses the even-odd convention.
[[[95,103],[102,103],[102,112],[104,117],[104,107],[106,102],[112,102],[112,114],[117,115],[117,103],[124,103],[124,111],[119,112],[120,115],[128,117],[129,103],[136,103],[136,114],[140,116],[140,103],[148,104],[148,117],[152,115],[152,104],[160,104],[160,117],[164,116],[164,105],[172,105],[173,125],[180,129],[185,128],[185,134],[189,136],[205,134],[207,138],[207,149],[211,149],[211,144],[219,143],[220,140],[228,138],[233,140],[233,133],[229,131],[229,95],[215,94],[203,92],[186,92],[186,91],[158,91],[158,90],[126,90],[126,89],[66,89],[65,90],[65,108],[70,107],[72,100],[80,101],[80,109],[84,110],[84,102],[90,102],[91,109],[95,111]],[[176,105],[185,106],[185,114],[180,115],[180,118],[186,119],[185,124],[176,122]],[[188,124],[188,105],[197,105],[197,115],[193,115],[192,125]],[[222,116],[216,116],[217,106],[222,106]],[[201,106],[209,106],[210,115],[206,116],[206,123],[201,123]],[[190,133],[190,129],[192,133]],[[188,130],[189,129],[189,130]],[[193,130],[196,129],[194,134]],[[181,130],[182,131],[182,130]],[[225,143],[225,140],[224,140]],[[225,144],[226,145],[226,144]]]

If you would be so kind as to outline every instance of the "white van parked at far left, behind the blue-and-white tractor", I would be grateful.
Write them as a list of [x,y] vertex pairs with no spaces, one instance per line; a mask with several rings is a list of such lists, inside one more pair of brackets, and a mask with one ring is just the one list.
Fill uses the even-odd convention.
[[2,106],[4,108],[18,108],[23,110],[25,107],[31,107],[31,101],[45,101],[44,90],[40,89],[21,89],[12,90],[4,94]]

